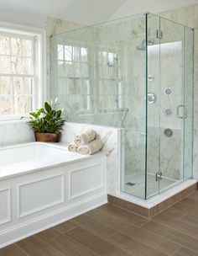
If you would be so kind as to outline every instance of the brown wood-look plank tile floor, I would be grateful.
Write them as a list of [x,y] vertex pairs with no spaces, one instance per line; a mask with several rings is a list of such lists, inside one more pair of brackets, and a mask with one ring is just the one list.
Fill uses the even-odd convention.
[[0,249],[0,256],[198,255],[198,190],[152,219],[107,204]]

